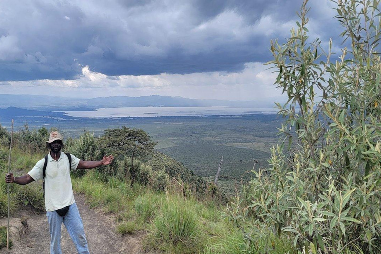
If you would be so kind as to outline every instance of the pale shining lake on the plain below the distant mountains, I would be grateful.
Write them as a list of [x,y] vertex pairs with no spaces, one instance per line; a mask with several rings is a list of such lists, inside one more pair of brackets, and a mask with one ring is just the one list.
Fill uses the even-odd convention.
[[274,114],[273,108],[232,108],[232,107],[126,107],[100,108],[96,111],[65,111],[73,117],[160,117],[160,116],[218,116]]

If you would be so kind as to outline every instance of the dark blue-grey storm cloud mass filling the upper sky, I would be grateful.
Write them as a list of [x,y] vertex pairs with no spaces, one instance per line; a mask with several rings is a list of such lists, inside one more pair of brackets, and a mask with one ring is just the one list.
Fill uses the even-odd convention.
[[[270,58],[301,0],[0,1],[0,80],[236,72]],[[329,0],[311,0],[310,30],[339,33]]]

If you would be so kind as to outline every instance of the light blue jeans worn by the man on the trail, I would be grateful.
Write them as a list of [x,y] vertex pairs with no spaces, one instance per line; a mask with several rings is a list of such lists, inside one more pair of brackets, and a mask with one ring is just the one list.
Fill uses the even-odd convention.
[[69,211],[64,217],[58,215],[56,211],[46,212],[46,217],[48,217],[49,222],[51,254],[62,254],[60,243],[62,222],[64,222],[71,239],[73,239],[78,254],[90,254],[82,219],[76,203],[70,205]]

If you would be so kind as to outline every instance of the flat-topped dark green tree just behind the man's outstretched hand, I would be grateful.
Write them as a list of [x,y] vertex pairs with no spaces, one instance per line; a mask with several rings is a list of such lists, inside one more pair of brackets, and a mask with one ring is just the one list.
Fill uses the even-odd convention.
[[134,158],[137,153],[152,151],[157,142],[151,141],[147,132],[142,129],[122,127],[122,129],[106,129],[100,138],[104,147],[109,148],[116,155],[130,155],[131,167],[129,169],[131,186],[136,180]]

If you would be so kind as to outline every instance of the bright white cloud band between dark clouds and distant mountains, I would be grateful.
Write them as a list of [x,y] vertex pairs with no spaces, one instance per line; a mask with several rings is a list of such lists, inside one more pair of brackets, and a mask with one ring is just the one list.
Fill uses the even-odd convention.
[[241,72],[107,76],[88,66],[75,80],[33,80],[0,83],[2,93],[49,94],[62,96],[107,97],[169,95],[196,99],[272,100],[280,96],[273,82],[276,74],[262,63],[246,63]]

